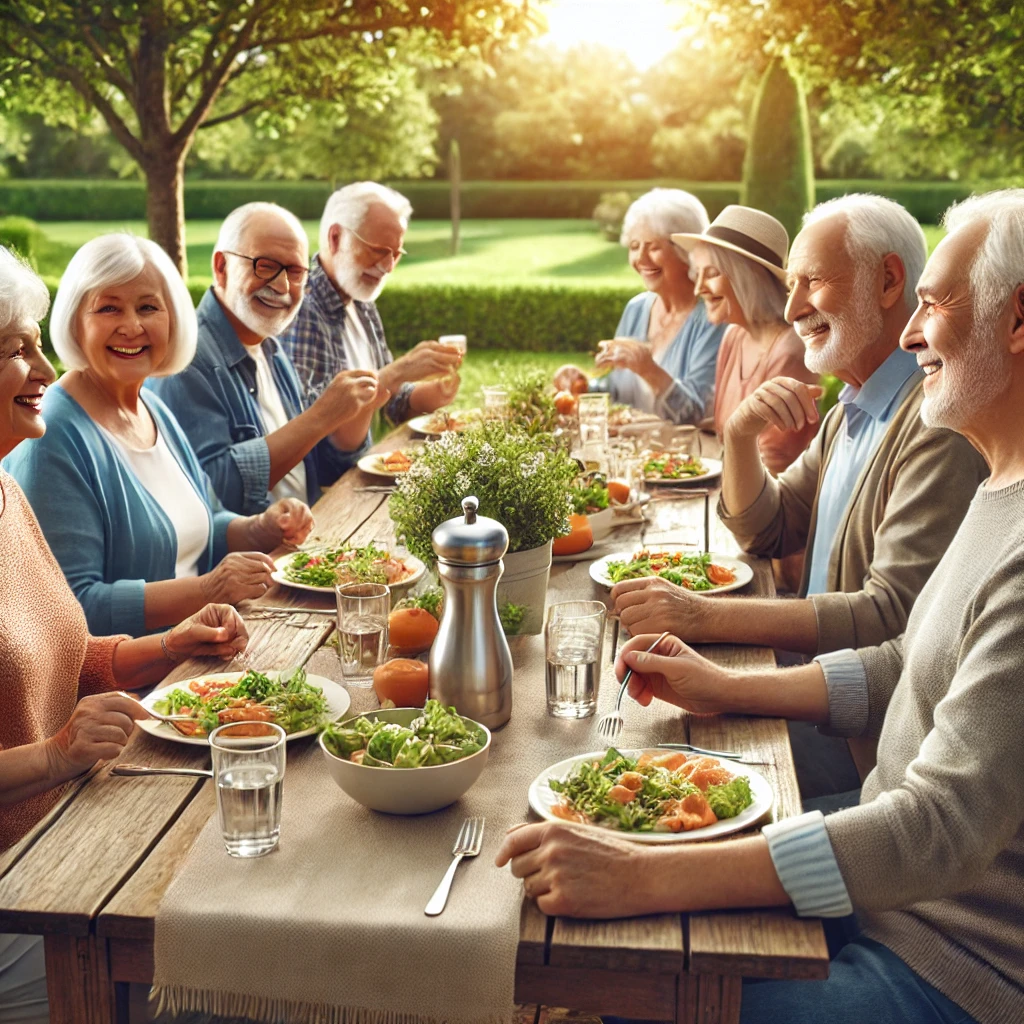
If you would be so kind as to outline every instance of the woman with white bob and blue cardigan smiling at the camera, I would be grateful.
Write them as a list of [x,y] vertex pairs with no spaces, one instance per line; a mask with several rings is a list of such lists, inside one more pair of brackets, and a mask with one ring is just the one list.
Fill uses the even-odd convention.
[[261,596],[265,552],[301,543],[309,509],[289,498],[254,516],[226,512],[184,432],[146,379],[180,371],[196,313],[167,254],[131,234],[86,243],[50,317],[71,369],[42,407],[46,433],[4,461],[97,633],[139,636],[208,601]]

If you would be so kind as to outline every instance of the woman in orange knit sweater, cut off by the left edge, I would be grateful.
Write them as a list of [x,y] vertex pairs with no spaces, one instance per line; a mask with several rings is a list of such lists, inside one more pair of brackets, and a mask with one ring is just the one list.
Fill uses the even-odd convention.
[[[40,346],[46,286],[0,247],[0,457],[40,443],[53,369]],[[82,453],[85,459],[85,453]],[[78,508],[56,497],[66,528]],[[162,636],[92,636],[17,483],[0,469],[0,852],[26,835],[65,785],[117,757],[147,713],[118,690],[162,679],[194,654],[233,657],[246,630],[207,605]],[[49,1020],[42,940],[0,935],[0,1022]]]

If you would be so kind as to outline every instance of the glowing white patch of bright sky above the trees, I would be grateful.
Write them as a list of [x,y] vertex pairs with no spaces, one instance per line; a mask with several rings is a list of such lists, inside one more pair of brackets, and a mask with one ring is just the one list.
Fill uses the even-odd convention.
[[656,63],[679,41],[673,26],[680,8],[666,0],[552,0],[543,9],[552,42],[625,50],[640,69]]

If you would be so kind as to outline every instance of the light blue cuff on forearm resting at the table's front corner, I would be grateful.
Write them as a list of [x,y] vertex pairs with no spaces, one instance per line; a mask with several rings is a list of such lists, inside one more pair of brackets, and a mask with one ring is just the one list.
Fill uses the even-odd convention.
[[853,913],[820,811],[765,825],[761,834],[768,841],[778,880],[801,918],[845,918]]

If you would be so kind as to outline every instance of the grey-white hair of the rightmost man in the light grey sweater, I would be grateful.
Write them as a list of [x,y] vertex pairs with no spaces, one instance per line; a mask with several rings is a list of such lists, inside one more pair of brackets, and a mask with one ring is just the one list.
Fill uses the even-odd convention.
[[942,226],[952,234],[980,221],[988,224],[988,233],[971,266],[971,290],[975,323],[987,325],[1024,284],[1024,188],[1000,188],[955,203]]

